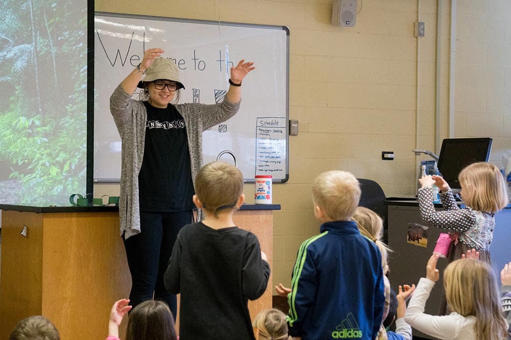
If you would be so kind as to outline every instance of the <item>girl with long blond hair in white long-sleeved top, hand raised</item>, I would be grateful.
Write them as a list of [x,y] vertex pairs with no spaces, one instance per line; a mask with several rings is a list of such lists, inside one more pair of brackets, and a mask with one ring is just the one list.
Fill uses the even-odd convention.
[[413,328],[439,339],[502,340],[507,323],[502,313],[497,279],[493,268],[475,258],[457,259],[444,272],[444,289],[449,315],[424,313],[431,289],[439,279],[438,254],[431,255],[426,277],[412,295],[405,321]]

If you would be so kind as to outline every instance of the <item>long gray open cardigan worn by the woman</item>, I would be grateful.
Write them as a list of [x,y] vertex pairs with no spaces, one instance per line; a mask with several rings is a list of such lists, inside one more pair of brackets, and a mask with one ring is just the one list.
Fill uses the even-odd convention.
[[[231,103],[225,97],[218,104],[184,103],[176,109],[186,123],[192,181],[202,166],[202,132],[233,117],[240,102]],[[141,232],[138,204],[138,173],[144,158],[147,111],[141,100],[131,99],[121,85],[110,96],[110,112],[122,141],[121,195],[119,220],[121,235],[125,238]]]

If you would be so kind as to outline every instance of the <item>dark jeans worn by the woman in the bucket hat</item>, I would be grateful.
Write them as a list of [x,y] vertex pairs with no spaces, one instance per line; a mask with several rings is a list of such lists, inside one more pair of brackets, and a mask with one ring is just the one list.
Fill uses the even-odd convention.
[[192,212],[140,213],[141,232],[124,240],[131,273],[130,305],[153,299],[165,301],[174,320],[177,299],[165,289],[163,282],[177,233],[192,222]]

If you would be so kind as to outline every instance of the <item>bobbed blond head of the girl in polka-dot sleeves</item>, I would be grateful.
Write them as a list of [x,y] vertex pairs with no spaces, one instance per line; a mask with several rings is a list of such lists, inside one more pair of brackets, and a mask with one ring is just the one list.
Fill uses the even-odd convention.
[[474,210],[496,213],[508,203],[504,177],[492,163],[473,163],[461,170],[458,180],[463,201]]

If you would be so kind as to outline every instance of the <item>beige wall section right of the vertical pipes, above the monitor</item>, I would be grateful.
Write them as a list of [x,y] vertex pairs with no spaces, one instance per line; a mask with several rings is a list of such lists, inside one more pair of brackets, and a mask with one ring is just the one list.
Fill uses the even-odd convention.
[[500,167],[511,149],[511,2],[459,2],[457,18],[455,136],[492,137]]

